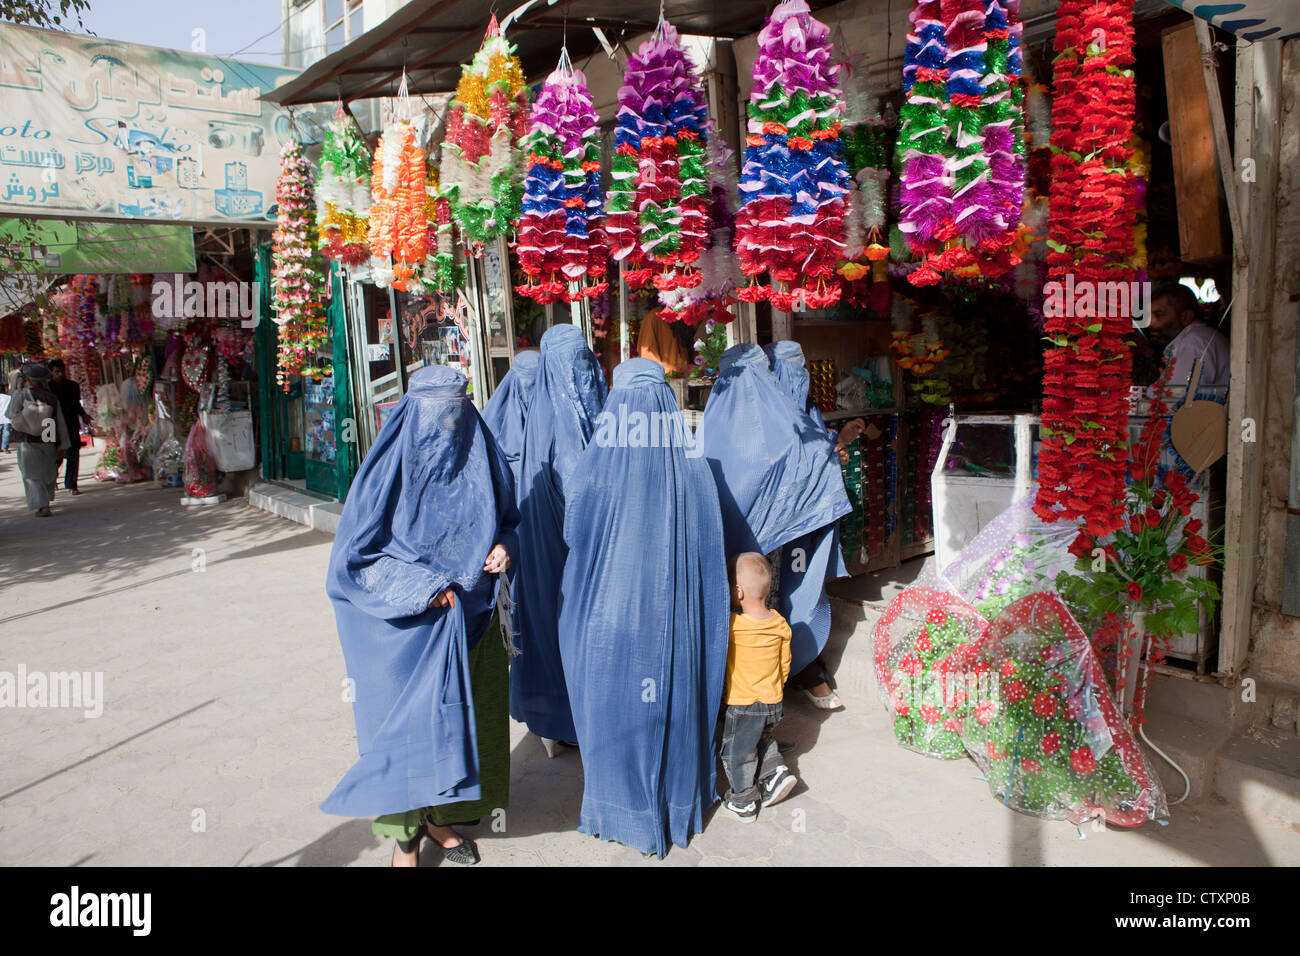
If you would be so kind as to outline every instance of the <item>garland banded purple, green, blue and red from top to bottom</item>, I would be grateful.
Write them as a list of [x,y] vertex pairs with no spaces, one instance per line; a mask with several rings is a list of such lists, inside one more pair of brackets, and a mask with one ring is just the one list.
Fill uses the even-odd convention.
[[[749,135],[736,216],[746,302],[789,312],[840,298],[829,281],[844,259],[849,173],[840,139],[838,66],[831,31],[803,0],[784,0],[758,35]],[[758,276],[771,273],[772,285]]]

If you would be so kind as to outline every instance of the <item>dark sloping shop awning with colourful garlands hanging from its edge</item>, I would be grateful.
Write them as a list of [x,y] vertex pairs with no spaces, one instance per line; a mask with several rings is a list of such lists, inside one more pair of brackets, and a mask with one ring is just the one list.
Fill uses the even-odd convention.
[[[809,0],[829,7],[832,0]],[[317,61],[261,99],[282,107],[351,103],[396,92],[406,69],[412,94],[450,92],[460,66],[473,59],[488,29],[482,0],[411,0],[373,30]],[[654,30],[654,0],[532,0],[500,4],[498,18],[519,47],[524,73],[541,78],[555,68],[560,44],[575,62],[602,48],[599,30],[611,44]],[[664,17],[681,34],[736,39],[762,29],[771,0],[664,0]],[[593,29],[594,27],[594,29]],[[603,53],[602,53],[603,55]]]

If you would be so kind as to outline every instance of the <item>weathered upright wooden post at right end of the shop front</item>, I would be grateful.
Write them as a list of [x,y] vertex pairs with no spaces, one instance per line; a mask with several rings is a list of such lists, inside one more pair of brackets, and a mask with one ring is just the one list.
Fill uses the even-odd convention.
[[[1197,29],[1201,29],[1197,22]],[[1204,30],[1208,36],[1208,29]],[[1236,44],[1236,159],[1230,203],[1240,211],[1232,269],[1232,352],[1225,503],[1223,624],[1218,672],[1240,672],[1251,643],[1264,502],[1264,428],[1273,323],[1280,150],[1282,44]],[[1249,172],[1249,174],[1247,174]],[[1231,208],[1231,204],[1230,207]],[[1247,441],[1245,438],[1251,438]]]

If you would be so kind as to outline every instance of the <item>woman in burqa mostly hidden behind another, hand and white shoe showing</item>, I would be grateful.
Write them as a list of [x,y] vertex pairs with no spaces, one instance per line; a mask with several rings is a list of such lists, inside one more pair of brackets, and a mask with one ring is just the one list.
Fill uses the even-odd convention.
[[[822,418],[822,410],[812,405],[809,398],[809,371],[803,349],[798,342],[780,339],[764,345],[763,352],[767,355],[772,376],[794,401],[794,407],[806,412],[812,419],[812,424],[822,432],[832,434],[835,451],[840,454],[841,462],[846,460],[845,446],[866,429],[866,423],[862,419],[854,419],[840,428],[838,433],[835,433],[835,429],[828,429]],[[831,636],[831,598],[826,593],[826,581],[833,578],[845,578],[848,574],[849,568],[844,564],[840,549],[837,525],[819,528],[781,549],[780,579],[776,588],[777,610],[794,628],[794,646],[807,645],[811,633],[811,644],[816,646],[818,652],[803,666],[800,666],[800,662],[805,654],[796,653],[793,656],[790,684],[802,691],[815,706],[823,710],[841,710],[844,708],[840,696],[831,688],[831,671],[822,659],[822,650]],[[800,635],[802,635],[802,640]]]

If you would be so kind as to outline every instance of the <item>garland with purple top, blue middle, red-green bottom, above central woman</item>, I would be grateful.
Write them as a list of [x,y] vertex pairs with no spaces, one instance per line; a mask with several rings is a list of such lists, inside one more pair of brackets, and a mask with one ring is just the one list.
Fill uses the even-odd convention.
[[[632,289],[660,291],[702,281],[696,265],[708,243],[707,108],[677,30],[662,18],[628,57],[619,90],[606,230]],[[663,304],[664,320],[676,319]]]

